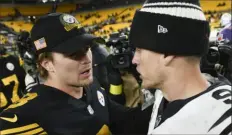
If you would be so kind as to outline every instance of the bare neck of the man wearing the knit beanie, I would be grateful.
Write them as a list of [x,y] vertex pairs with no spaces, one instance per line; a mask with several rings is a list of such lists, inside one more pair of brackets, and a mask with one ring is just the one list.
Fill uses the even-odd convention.
[[185,68],[183,70],[181,68],[169,74],[167,79],[161,90],[169,102],[190,98],[209,87],[209,83],[201,74],[200,69],[188,70]]

